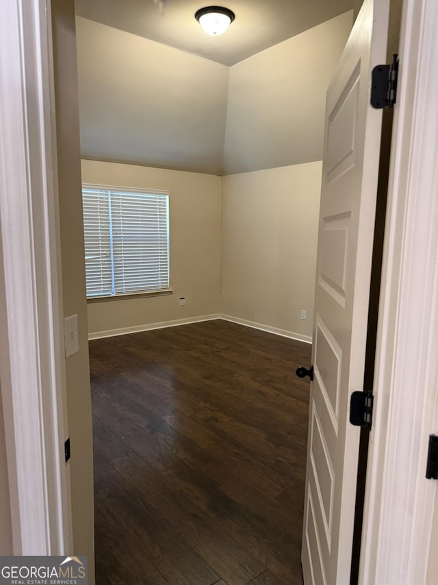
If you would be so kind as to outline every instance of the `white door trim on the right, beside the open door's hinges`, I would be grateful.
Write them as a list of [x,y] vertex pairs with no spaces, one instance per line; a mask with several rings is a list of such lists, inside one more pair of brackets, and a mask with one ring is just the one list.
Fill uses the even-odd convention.
[[426,582],[437,482],[438,3],[404,1],[360,582]]

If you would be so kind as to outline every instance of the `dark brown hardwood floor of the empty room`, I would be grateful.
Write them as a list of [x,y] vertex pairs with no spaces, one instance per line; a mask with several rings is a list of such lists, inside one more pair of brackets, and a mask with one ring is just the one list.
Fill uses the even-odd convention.
[[309,359],[222,320],[90,342],[98,585],[302,584]]

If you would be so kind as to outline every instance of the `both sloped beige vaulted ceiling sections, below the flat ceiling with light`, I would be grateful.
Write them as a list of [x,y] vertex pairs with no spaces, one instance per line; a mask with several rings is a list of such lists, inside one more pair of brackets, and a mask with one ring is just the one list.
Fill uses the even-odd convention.
[[218,175],[320,160],[351,26],[349,11],[227,67],[77,17],[82,156]]

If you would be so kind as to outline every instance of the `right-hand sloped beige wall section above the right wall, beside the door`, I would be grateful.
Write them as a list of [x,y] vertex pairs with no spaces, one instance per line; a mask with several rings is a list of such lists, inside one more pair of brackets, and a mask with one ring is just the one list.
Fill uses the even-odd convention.
[[322,159],[326,89],[352,10],[230,69],[226,174]]

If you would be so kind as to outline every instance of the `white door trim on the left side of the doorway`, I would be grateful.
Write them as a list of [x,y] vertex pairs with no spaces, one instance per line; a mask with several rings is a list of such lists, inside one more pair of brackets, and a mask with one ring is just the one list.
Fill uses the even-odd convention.
[[50,3],[0,3],[1,392],[14,554],[70,550]]

